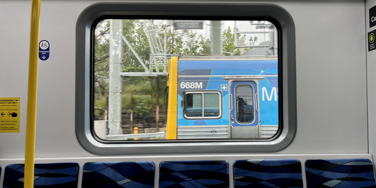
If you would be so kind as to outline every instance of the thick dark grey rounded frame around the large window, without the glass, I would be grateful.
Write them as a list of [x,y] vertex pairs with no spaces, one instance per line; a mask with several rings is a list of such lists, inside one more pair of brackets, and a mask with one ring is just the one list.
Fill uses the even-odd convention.
[[[278,29],[280,130],[273,138],[262,140],[103,141],[99,139],[92,129],[94,123],[92,34],[97,23],[108,18],[270,21]],[[278,5],[95,3],[83,10],[76,24],[76,137],[85,150],[95,155],[278,152],[289,146],[296,134],[295,66],[294,21],[291,15]]]

